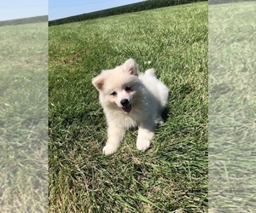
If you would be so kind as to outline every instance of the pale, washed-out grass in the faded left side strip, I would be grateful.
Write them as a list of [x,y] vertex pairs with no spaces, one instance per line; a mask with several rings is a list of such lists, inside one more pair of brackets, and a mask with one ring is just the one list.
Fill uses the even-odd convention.
[[47,210],[47,27],[0,27],[0,212]]

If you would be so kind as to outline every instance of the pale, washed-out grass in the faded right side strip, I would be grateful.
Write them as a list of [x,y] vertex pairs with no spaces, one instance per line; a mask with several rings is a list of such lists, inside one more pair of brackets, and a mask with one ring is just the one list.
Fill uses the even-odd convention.
[[255,2],[209,6],[209,210],[255,212]]

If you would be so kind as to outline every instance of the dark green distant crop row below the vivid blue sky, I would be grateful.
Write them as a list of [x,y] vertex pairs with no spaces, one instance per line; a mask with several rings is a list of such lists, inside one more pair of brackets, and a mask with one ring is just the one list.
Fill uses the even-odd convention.
[[67,24],[72,22],[77,22],[81,20],[92,20],[96,18],[102,18],[110,15],[115,14],[126,14],[126,13],[132,13],[147,9],[158,9],[183,3],[195,3],[195,2],[201,2],[201,1],[207,1],[207,0],[148,0],[141,3],[131,3],[125,6],[116,7],[113,9],[104,9],[88,14],[79,14],[70,16],[67,18],[59,19],[59,20],[50,20],[49,26],[56,26],[61,24]]

